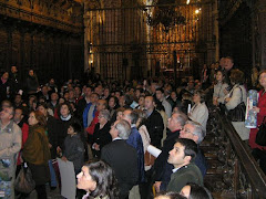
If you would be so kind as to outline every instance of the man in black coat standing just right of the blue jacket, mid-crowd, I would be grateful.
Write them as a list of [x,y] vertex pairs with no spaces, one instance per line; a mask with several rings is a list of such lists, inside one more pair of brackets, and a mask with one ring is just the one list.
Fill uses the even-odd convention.
[[163,118],[154,107],[154,98],[152,96],[145,97],[145,108],[147,111],[147,119],[145,126],[151,137],[151,145],[161,148],[161,139],[163,137]]

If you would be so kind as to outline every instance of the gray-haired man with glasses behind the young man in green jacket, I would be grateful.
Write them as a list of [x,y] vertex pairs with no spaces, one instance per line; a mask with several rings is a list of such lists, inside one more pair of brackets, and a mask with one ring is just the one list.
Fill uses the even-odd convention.
[[[207,171],[207,163],[204,157],[203,151],[200,149],[200,144],[204,139],[204,130],[200,123],[187,121],[184,125],[184,127],[180,132],[180,138],[187,138],[192,139],[197,144],[197,155],[194,160],[195,165],[200,168],[203,177],[206,175]],[[162,177],[162,181],[157,181],[155,184],[155,188],[158,191],[166,190],[166,187],[168,185],[168,181],[171,179],[173,166],[170,164],[166,164],[164,174]]]

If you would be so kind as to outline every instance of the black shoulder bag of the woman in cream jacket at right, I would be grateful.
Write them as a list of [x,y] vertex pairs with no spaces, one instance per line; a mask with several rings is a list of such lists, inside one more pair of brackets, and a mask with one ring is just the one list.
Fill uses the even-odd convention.
[[[241,88],[241,92],[242,92],[242,88]],[[243,102],[243,93],[242,93],[242,103],[238,104],[234,109],[228,111],[228,117],[232,122],[244,122],[245,116],[246,116],[246,105]]]

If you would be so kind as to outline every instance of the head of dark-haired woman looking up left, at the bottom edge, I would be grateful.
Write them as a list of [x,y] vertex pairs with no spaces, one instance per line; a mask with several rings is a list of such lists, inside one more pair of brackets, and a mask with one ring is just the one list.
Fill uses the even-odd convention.
[[100,160],[84,165],[81,172],[76,175],[78,189],[88,193],[83,199],[119,199],[117,180],[113,169]]

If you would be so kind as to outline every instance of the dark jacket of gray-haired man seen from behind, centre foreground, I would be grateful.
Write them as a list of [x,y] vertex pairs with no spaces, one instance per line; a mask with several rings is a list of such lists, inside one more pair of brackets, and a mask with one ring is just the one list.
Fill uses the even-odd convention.
[[117,139],[103,147],[101,158],[114,169],[120,198],[125,198],[139,180],[136,150],[125,140]]

